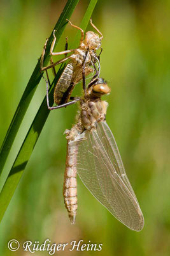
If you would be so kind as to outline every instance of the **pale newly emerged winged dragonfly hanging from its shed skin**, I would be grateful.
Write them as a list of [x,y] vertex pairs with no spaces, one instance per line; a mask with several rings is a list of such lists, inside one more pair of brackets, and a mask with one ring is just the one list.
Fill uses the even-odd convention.
[[108,103],[101,100],[110,88],[100,77],[90,83],[80,99],[76,124],[66,130],[67,156],[64,173],[64,202],[71,224],[77,211],[77,180],[80,176],[90,193],[131,230],[140,231],[143,213],[125,173],[117,143],[106,123]]

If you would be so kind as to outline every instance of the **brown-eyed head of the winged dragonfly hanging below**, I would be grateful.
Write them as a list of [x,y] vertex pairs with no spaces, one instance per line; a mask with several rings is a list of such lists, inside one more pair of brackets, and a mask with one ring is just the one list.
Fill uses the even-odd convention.
[[101,97],[104,94],[108,94],[111,92],[111,88],[108,86],[106,81],[103,78],[99,77],[94,83],[92,87],[92,93],[96,95],[96,97]]

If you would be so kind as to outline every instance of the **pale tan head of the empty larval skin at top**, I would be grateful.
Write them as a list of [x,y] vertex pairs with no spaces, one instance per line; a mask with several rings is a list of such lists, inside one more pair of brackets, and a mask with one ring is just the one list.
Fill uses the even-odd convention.
[[83,43],[86,47],[89,47],[89,50],[97,51],[101,47],[101,38],[93,31],[87,31]]

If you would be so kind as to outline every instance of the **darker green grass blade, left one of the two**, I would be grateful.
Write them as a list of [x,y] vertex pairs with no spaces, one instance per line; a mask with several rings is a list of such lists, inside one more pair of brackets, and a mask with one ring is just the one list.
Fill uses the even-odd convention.
[[[62,32],[64,31],[64,28],[67,24],[66,19],[69,19],[71,17],[71,14],[73,13],[74,8],[76,7],[76,4],[78,4],[78,2],[79,0],[67,1],[66,6],[64,7],[64,10],[60,15],[59,20],[57,21],[57,24],[54,27],[54,29],[56,29],[55,35],[57,38],[57,42],[59,41],[59,38],[62,35]],[[46,54],[44,59],[45,65],[46,63],[48,63],[50,58],[49,52],[50,52],[50,45],[52,43],[52,40],[53,40],[53,30],[48,40],[48,44],[46,45]],[[1,146],[0,175],[1,175],[1,172],[3,171],[4,164],[6,163],[6,159],[11,150],[11,146],[13,145],[13,141],[15,140],[15,136],[17,135],[20,124],[24,118],[25,112],[27,111],[29,103],[31,102],[31,99],[34,95],[34,92],[36,91],[36,88],[40,80],[41,80],[41,74],[39,72],[39,61],[38,61],[36,67],[34,68],[34,72],[32,73],[32,76],[29,79],[27,87],[25,88],[22,98],[20,99],[17,110],[15,111],[15,115],[13,116],[13,120],[11,121],[10,127],[4,138],[3,145]]]

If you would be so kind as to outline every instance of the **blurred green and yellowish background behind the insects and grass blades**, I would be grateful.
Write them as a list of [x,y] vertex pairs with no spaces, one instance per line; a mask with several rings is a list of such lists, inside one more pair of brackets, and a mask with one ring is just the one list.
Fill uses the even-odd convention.
[[[71,21],[79,25],[89,1],[80,0]],[[66,1],[0,3],[0,142]],[[89,193],[78,178],[78,216],[70,225],[62,198],[66,159],[65,129],[74,124],[77,106],[52,111],[34,148],[17,191],[0,225],[1,255],[10,239],[52,243],[102,243],[101,252],[55,255],[170,255],[170,3],[98,1],[92,15],[103,35],[101,76],[111,87],[106,120],[115,135],[132,188],[145,217],[134,232],[122,225]],[[90,26],[89,26],[89,29]],[[76,30],[67,26],[56,48],[69,45]],[[10,153],[15,159],[31,120],[45,96],[42,80]],[[11,168],[5,166],[6,172]],[[48,255],[36,252],[34,255]]]

